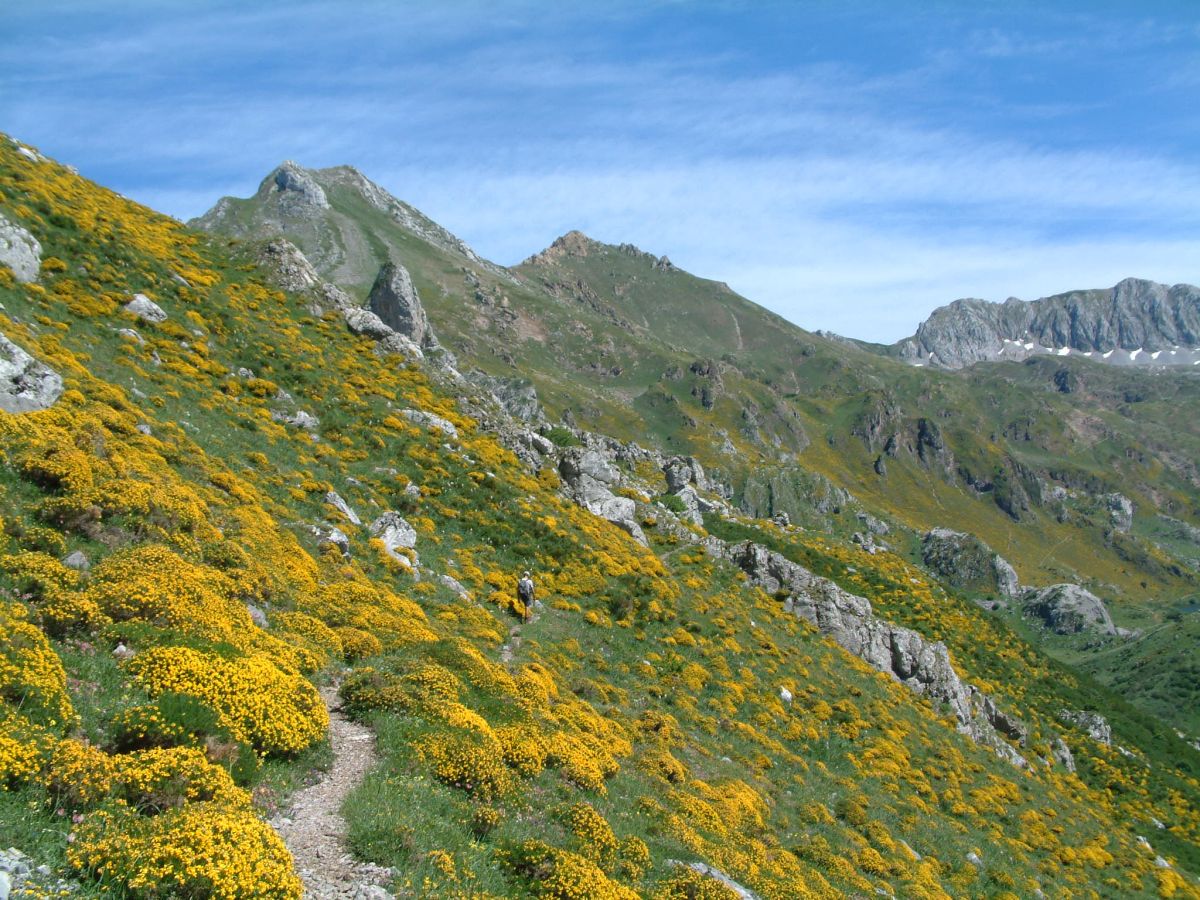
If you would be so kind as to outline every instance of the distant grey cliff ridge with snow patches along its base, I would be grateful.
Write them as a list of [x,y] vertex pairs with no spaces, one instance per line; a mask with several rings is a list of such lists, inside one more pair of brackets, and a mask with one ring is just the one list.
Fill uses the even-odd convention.
[[955,300],[894,344],[901,359],[944,368],[1037,353],[1115,365],[1190,366],[1200,360],[1198,348],[1200,288],[1140,278],[1030,302]]

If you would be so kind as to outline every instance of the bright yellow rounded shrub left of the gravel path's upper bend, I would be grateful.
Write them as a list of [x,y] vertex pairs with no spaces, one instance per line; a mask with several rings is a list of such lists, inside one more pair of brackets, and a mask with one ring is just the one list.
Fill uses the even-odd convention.
[[316,688],[262,654],[226,660],[187,647],[154,647],[130,660],[130,671],[151,696],[196,697],[234,739],[264,754],[299,752],[329,727]]

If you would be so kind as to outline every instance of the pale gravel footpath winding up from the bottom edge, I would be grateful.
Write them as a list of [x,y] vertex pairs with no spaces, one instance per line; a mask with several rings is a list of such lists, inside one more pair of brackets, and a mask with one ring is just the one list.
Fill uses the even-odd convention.
[[374,736],[342,715],[336,688],[325,688],[322,700],[329,708],[329,737],[334,764],[317,784],[298,791],[286,816],[271,824],[295,858],[296,872],[311,900],[386,900],[382,884],[391,870],[361,863],[346,846],[342,802],[376,764]]

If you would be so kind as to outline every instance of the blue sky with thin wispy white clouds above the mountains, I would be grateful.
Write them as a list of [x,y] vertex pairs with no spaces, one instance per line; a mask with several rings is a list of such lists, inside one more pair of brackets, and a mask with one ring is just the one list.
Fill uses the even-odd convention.
[[1200,2],[0,8],[0,130],[180,218],[350,163],[512,264],[580,228],[877,341],[1200,282]]

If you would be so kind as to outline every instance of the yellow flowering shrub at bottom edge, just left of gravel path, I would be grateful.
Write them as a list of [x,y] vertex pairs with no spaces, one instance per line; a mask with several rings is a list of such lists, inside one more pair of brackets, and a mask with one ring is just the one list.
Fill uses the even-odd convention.
[[190,803],[156,816],[114,806],[88,815],[67,859],[132,898],[299,900],[278,835],[250,809]]

